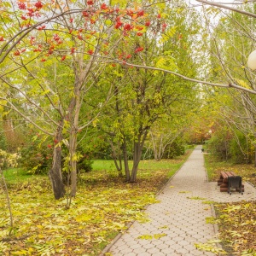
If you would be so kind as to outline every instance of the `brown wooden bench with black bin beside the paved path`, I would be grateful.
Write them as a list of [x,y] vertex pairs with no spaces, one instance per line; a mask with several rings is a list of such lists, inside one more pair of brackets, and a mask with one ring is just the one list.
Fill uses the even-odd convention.
[[[229,180],[229,177],[232,178]],[[241,182],[240,185],[237,185],[237,183],[239,183],[239,179],[241,179],[241,177],[237,176],[235,172],[220,172],[218,178],[218,186],[220,186],[220,192],[228,192],[231,195],[230,189],[233,183],[236,184],[236,191],[243,193],[244,185]]]

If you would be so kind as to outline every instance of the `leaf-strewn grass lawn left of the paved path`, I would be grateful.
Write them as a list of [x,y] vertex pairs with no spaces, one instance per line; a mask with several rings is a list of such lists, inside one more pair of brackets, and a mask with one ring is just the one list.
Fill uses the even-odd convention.
[[78,193],[69,209],[66,199],[55,201],[46,175],[4,171],[14,234],[8,236],[9,211],[1,191],[0,255],[99,255],[127,224],[148,221],[143,209],[157,203],[156,193],[188,155],[159,162],[143,160],[137,183],[118,177],[112,161],[95,160],[92,172],[79,174]]

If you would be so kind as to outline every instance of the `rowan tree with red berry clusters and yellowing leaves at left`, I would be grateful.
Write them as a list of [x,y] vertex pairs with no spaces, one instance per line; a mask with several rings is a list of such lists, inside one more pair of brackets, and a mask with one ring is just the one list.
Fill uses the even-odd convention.
[[[19,94],[18,99],[2,96],[3,104],[52,137],[55,147],[49,177],[56,199],[65,192],[61,177],[61,148],[65,145],[70,194],[74,196],[77,134],[92,122],[79,122],[84,96],[108,61],[116,56],[125,61],[117,47],[120,42],[125,44],[126,38],[140,37],[150,26],[149,16],[143,4],[119,8],[101,1],[3,2],[1,11],[6,31],[0,39],[0,63],[3,67],[11,61],[1,71],[1,79]],[[142,48],[138,46],[131,55]],[[18,108],[21,102],[26,108]]]

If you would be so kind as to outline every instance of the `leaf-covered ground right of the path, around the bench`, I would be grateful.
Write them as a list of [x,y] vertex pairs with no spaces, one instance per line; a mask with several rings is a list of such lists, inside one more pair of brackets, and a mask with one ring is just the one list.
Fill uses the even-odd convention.
[[[256,186],[256,169],[253,165],[230,165],[209,160],[212,177],[217,181],[219,173],[235,172],[242,177],[242,182]],[[236,203],[214,203],[217,212],[219,238],[229,255],[256,256],[256,201]]]

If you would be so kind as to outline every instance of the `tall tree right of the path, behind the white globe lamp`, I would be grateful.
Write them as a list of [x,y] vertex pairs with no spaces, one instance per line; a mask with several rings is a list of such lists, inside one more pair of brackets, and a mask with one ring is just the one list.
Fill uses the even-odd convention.
[[[199,1],[207,3],[207,1]],[[244,88],[255,89],[255,74],[247,67],[247,56],[253,50],[255,39],[253,38],[253,27],[255,17],[253,12],[255,3],[247,3],[230,8],[220,4],[209,3],[214,8],[208,9],[206,24],[209,25],[208,32],[212,32],[209,45],[210,61],[209,73],[212,81],[226,80],[229,84],[240,84]],[[228,10],[225,10],[228,9]],[[212,24],[208,17],[209,12],[217,14],[218,23]],[[251,15],[252,14],[252,15]],[[214,27],[214,29],[210,29]],[[209,33],[208,33],[209,35]],[[255,139],[255,96],[246,92],[209,90],[212,100],[218,98],[218,119],[222,117],[221,123],[226,122],[230,134],[236,139],[237,147],[241,149],[244,159],[248,160],[247,148]],[[226,104],[225,98],[230,101]],[[222,100],[221,100],[222,98]],[[221,127],[220,125],[219,127]],[[247,137],[247,147],[241,147],[238,136],[242,133]]]

